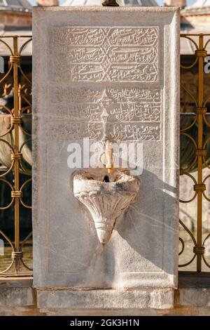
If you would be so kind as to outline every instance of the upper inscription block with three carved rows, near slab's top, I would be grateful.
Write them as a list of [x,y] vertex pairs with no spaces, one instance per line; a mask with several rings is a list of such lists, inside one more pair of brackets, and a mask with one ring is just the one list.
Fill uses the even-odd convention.
[[56,27],[54,77],[158,81],[158,27]]

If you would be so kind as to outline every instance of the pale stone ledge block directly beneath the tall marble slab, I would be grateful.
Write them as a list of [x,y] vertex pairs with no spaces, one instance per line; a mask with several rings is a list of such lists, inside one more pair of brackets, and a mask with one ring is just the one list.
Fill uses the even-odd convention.
[[[174,307],[173,289],[89,290],[37,289],[41,310],[130,310]],[[59,306],[59,308],[58,308]]]

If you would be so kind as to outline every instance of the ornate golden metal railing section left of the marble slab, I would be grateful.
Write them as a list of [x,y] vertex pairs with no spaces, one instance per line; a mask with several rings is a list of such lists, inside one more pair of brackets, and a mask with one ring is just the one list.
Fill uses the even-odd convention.
[[[8,263],[0,261],[1,276],[29,276],[32,274],[31,267],[25,263],[23,256],[23,249],[31,239],[32,232],[20,239],[22,236],[22,232],[20,232],[21,207],[31,209],[23,196],[25,187],[31,182],[29,142],[31,132],[30,129],[27,129],[31,125],[31,81],[21,65],[22,51],[30,41],[31,36],[6,37],[6,41],[4,37],[0,37],[0,46],[4,47],[4,53],[9,54],[7,72],[0,79],[3,92],[0,102],[0,180],[10,189],[10,201],[6,206],[1,205],[0,210],[6,212],[8,209],[13,209],[12,228],[3,230],[0,225],[0,238],[1,242],[3,241],[1,245],[5,246],[7,257],[4,260],[7,260]],[[4,60],[6,61],[6,57]],[[10,107],[8,100],[11,103]],[[1,203],[3,202],[7,201],[2,198]],[[8,218],[6,220],[9,222]],[[9,250],[10,256],[8,256]]]

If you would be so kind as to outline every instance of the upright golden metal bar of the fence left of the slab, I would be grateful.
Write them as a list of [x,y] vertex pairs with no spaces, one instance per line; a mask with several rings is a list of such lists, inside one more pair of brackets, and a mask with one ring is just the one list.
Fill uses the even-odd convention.
[[[14,57],[18,56],[18,37],[13,37],[13,51]],[[13,88],[14,88],[14,117],[18,117],[18,62],[13,62]],[[19,152],[19,124],[14,123],[14,151],[15,154]],[[14,164],[14,180],[15,191],[19,191],[19,160],[15,159]],[[20,198],[15,197],[15,251],[20,249]],[[15,258],[15,272],[18,273],[20,268],[20,259]]]

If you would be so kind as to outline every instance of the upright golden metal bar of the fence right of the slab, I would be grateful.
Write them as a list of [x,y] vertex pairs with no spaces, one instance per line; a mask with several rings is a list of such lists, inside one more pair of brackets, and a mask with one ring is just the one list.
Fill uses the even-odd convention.
[[[204,37],[199,36],[199,50],[203,51]],[[204,58],[198,58],[198,107],[202,108],[204,99]],[[203,147],[203,114],[197,114],[197,149]],[[197,156],[197,185],[202,185],[202,155]],[[197,192],[197,248],[202,247],[202,191]],[[202,254],[197,253],[197,272],[202,271]]]

